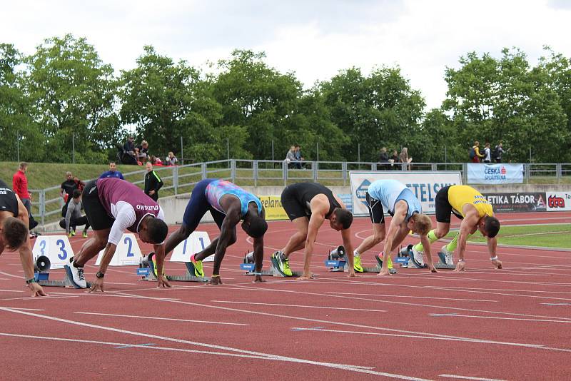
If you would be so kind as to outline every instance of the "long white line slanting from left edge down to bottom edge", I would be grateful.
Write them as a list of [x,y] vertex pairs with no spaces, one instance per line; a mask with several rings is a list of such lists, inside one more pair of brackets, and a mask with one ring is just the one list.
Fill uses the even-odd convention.
[[[176,303],[176,302],[172,302],[172,303]],[[6,308],[6,307],[0,307],[0,310],[4,310],[6,312],[11,312],[11,313],[19,313],[21,315],[28,315],[28,316],[32,316],[32,317],[40,317],[42,319],[54,320],[57,322],[65,322],[65,323],[68,323],[71,325],[79,325],[81,327],[96,328],[98,330],[108,330],[111,332],[118,332],[118,333],[123,333],[126,335],[151,337],[151,338],[157,339],[157,340],[178,342],[181,344],[189,344],[189,345],[198,345],[200,347],[209,347],[209,348],[218,349],[218,350],[227,350],[229,352],[238,352],[240,354],[256,355],[256,356],[266,357],[264,360],[278,360],[278,361],[283,361],[283,362],[294,362],[294,363],[298,363],[298,364],[317,365],[317,366],[321,366],[321,367],[330,367],[330,368],[335,368],[335,369],[339,369],[339,370],[348,370],[350,372],[358,372],[358,373],[366,373],[366,374],[370,374],[370,375],[380,375],[380,376],[385,376],[385,377],[393,377],[393,378],[398,378],[400,380],[420,380],[420,381],[425,380],[425,379],[421,379],[421,378],[417,378],[417,377],[408,377],[405,375],[397,375],[397,374],[387,373],[387,372],[375,372],[374,370],[368,370],[368,369],[363,369],[360,367],[354,367],[352,365],[343,365],[343,364],[338,364],[338,363],[333,363],[333,362],[319,362],[319,361],[312,361],[312,360],[304,360],[304,359],[299,359],[299,358],[295,358],[295,357],[272,355],[269,353],[255,352],[255,351],[251,351],[251,350],[241,350],[239,348],[226,347],[223,345],[213,345],[213,344],[207,344],[204,342],[196,342],[196,341],[190,341],[190,340],[176,339],[175,337],[150,335],[148,333],[143,333],[143,332],[120,330],[118,328],[106,327],[104,325],[95,325],[95,324],[89,324],[86,322],[77,322],[74,320],[61,319],[59,317],[54,317],[54,316],[49,316],[49,315],[41,315],[41,314],[37,314],[37,313],[29,313],[26,311],[14,310],[12,308]]]

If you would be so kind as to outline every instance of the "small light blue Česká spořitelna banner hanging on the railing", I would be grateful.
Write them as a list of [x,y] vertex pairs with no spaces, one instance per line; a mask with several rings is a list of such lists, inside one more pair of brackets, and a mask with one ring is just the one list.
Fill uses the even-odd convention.
[[523,183],[523,164],[468,163],[468,184]]

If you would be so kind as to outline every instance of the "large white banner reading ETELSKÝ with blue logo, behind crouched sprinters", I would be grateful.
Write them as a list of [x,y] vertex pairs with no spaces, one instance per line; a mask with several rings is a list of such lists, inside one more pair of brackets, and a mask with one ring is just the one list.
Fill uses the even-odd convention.
[[373,181],[391,178],[405,184],[416,195],[423,205],[423,212],[435,213],[434,198],[440,188],[452,185],[461,185],[460,172],[349,172],[351,194],[353,195],[353,214],[357,216],[369,215],[365,201],[365,192]]

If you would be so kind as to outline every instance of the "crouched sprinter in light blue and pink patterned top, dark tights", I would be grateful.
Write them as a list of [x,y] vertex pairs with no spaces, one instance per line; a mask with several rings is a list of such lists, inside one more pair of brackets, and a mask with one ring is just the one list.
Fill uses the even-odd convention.
[[243,220],[242,229],[253,238],[256,278],[254,282],[263,282],[261,271],[263,262],[263,235],[268,230],[266,212],[262,203],[252,193],[244,191],[234,183],[226,180],[207,178],[199,181],[194,187],[191,200],[184,211],[183,224],[172,233],[166,241],[166,253],[170,253],[176,245],[186,240],[196,230],[201,218],[210,211],[216,225],[220,228],[220,236],[212,241],[200,253],[191,256],[191,262],[197,277],[203,277],[202,260],[214,254],[214,268],[209,284],[221,285],[220,265],[226,254],[226,248],[236,242],[236,225]]

